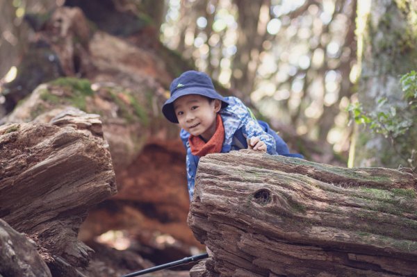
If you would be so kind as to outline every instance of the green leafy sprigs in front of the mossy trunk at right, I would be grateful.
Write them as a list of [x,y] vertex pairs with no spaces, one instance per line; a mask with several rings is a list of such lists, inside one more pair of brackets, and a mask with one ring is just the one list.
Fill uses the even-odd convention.
[[[414,135],[409,131],[417,125],[417,72],[411,71],[400,79],[405,105],[393,105],[386,97],[377,101],[377,108],[371,112],[363,108],[362,103],[353,103],[348,107],[357,124],[368,126],[371,131],[384,135],[390,140],[400,156],[411,168],[416,168],[416,149],[413,147]],[[404,144],[411,146],[411,153],[404,153]],[[404,156],[405,155],[405,156]]]

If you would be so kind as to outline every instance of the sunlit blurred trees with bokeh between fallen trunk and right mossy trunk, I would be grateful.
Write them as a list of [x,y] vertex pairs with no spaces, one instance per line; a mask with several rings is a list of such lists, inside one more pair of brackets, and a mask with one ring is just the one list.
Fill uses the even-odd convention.
[[161,39],[261,116],[347,153],[357,1],[169,1]]

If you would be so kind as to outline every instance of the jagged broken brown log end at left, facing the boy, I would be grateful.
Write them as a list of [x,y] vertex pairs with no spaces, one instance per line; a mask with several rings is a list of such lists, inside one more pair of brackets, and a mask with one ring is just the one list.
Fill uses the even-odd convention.
[[51,269],[88,265],[92,250],[77,240],[79,226],[116,193],[99,116],[73,109],[51,124],[0,126],[0,153],[0,217],[47,249]]

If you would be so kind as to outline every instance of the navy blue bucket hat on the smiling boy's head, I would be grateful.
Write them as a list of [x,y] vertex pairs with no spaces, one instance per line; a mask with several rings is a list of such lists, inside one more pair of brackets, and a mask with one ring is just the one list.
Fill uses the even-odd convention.
[[194,70],[184,72],[181,76],[172,81],[170,92],[170,99],[163,104],[162,112],[163,115],[173,123],[178,123],[174,111],[174,101],[184,95],[199,94],[211,99],[219,99],[222,101],[222,108],[229,105],[229,102],[215,91],[211,78],[204,72],[196,72]]

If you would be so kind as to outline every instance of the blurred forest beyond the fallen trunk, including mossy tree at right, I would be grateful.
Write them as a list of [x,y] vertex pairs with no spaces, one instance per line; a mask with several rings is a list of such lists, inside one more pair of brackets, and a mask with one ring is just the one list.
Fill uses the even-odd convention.
[[[0,76],[5,83],[13,80],[14,66],[31,40],[24,15],[46,12],[64,1],[0,3]],[[284,137],[303,137],[295,148],[307,158],[347,165],[350,157],[350,166],[415,167],[416,143],[405,138],[415,126],[410,101],[416,97],[416,77],[404,80],[414,82],[407,87],[408,101],[400,78],[416,67],[416,1],[172,0],[120,5],[146,15],[160,30],[163,44],[256,107],[258,117]],[[355,128],[352,119],[373,132]],[[387,146],[394,154],[382,155]],[[356,162],[355,148],[360,149]]]

